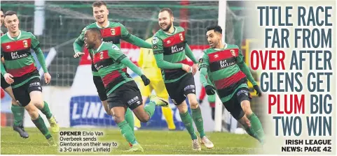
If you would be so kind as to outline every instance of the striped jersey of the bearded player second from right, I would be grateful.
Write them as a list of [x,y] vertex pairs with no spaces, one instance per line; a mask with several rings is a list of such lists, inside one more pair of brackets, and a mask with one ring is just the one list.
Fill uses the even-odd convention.
[[[163,54],[163,60],[170,63],[188,64],[186,59],[186,38],[184,28],[174,26],[174,33],[166,33],[159,30],[152,38],[153,54]],[[157,63],[158,60],[156,59]],[[165,83],[178,81],[187,73],[180,68],[165,69],[161,68]]]

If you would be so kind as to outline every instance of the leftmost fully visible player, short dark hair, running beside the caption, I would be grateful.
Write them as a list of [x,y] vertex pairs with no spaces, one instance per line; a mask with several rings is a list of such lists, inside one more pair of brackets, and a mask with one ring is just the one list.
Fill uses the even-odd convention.
[[19,29],[19,19],[15,11],[7,11],[4,21],[8,32],[1,36],[1,54],[4,55],[6,70],[1,63],[1,74],[4,75],[6,82],[11,84],[16,100],[28,111],[33,123],[46,137],[50,146],[57,146],[39,115],[40,109],[48,118],[52,132],[57,133],[60,130],[47,102],[43,102],[39,71],[30,52],[30,49],[34,49],[43,69],[46,84],[49,84],[51,77],[39,47],[40,43],[32,33]]

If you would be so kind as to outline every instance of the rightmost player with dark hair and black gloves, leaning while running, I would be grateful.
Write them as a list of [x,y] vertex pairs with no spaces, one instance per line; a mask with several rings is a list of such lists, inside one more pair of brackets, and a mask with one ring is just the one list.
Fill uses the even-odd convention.
[[207,95],[214,95],[216,91],[223,105],[245,127],[247,133],[263,144],[264,132],[261,122],[250,108],[252,96],[247,79],[252,82],[259,96],[262,93],[239,47],[223,44],[221,26],[207,27],[206,36],[210,48],[204,51],[202,59],[199,60],[202,86],[205,87]]

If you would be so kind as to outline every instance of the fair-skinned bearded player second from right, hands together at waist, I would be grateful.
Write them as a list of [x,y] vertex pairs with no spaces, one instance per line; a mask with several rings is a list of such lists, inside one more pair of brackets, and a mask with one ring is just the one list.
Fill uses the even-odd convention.
[[[193,75],[198,70],[198,61],[187,45],[184,29],[180,26],[173,26],[173,20],[170,8],[160,10],[158,24],[161,30],[153,36],[153,54],[158,68],[162,71],[167,92],[172,102],[177,105],[181,120],[191,135],[192,149],[201,150],[200,143],[207,148],[213,148],[214,144],[205,136],[202,114],[195,95]],[[192,73],[191,67],[187,65],[186,56],[194,63]],[[191,105],[192,116],[188,113],[186,98]],[[200,134],[200,141],[195,134],[193,120]]]

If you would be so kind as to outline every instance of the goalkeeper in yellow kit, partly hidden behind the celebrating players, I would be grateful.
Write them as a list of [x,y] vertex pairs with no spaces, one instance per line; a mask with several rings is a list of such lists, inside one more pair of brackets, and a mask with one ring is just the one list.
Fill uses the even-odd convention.
[[[153,29],[153,32],[156,33],[156,29]],[[147,39],[146,42],[152,44],[152,37]],[[151,83],[148,86],[144,86],[143,83],[139,84],[140,92],[142,93],[143,102],[145,104],[147,98],[151,95],[151,92],[156,91],[156,95],[159,98],[168,100],[169,95],[166,91],[165,84],[160,72],[160,69],[157,66],[156,59],[154,59],[152,49],[141,48],[139,54],[138,65],[142,68],[144,75],[148,77]],[[137,79],[138,80],[138,79]],[[173,122],[172,109],[170,107],[161,107],[164,117],[166,119],[167,127],[169,130],[175,130],[176,126]],[[138,118],[135,118],[135,127],[140,128],[140,121]]]

